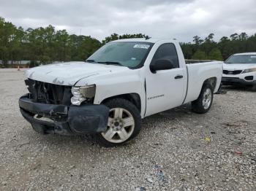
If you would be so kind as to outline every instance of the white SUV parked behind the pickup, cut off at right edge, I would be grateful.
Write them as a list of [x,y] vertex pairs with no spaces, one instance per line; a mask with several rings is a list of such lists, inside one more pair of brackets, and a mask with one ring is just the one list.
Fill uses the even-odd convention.
[[240,53],[227,58],[223,66],[223,85],[252,85],[256,91],[256,52]]

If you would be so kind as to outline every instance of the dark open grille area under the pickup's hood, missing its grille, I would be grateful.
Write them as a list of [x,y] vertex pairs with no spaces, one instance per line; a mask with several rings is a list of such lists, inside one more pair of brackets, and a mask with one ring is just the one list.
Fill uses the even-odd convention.
[[35,102],[44,104],[70,105],[72,97],[71,87],[65,85],[53,85],[46,82],[39,82],[33,79],[26,79],[31,98]]

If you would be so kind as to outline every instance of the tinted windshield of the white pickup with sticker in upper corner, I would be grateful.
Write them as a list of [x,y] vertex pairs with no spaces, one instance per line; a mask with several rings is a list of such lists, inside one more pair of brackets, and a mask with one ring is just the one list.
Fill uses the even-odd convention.
[[99,48],[86,61],[138,68],[143,66],[151,42],[110,42]]

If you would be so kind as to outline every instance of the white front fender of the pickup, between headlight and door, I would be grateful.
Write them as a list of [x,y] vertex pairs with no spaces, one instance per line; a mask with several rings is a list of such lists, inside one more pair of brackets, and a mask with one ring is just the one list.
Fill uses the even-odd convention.
[[115,95],[137,93],[140,95],[140,114],[143,117],[146,109],[145,76],[143,75],[143,69],[132,70],[121,66],[116,67],[122,68],[123,71],[84,78],[75,86],[96,85],[94,104],[101,104],[106,98]]

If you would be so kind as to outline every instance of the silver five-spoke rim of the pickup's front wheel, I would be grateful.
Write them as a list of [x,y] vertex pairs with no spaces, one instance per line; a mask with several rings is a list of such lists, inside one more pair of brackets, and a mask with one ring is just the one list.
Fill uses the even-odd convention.
[[122,143],[132,136],[134,129],[135,120],[132,114],[127,109],[116,107],[110,109],[108,128],[102,136],[111,143]]

